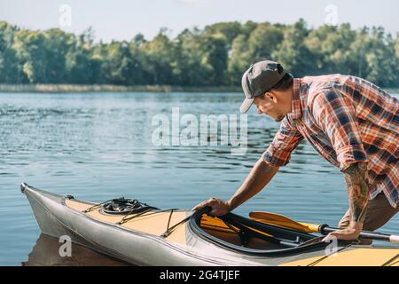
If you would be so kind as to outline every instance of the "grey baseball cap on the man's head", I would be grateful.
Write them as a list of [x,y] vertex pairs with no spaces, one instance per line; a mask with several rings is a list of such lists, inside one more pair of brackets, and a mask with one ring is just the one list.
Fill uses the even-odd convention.
[[254,103],[254,98],[269,91],[286,75],[284,68],[278,62],[264,60],[257,62],[242,76],[242,89],[246,99],[240,107],[241,114],[245,114]]

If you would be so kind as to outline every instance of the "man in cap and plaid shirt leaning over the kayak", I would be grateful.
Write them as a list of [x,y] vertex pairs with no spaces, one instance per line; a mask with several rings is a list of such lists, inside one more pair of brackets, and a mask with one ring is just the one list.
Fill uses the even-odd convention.
[[355,76],[293,78],[269,60],[246,70],[242,87],[246,99],[241,113],[254,104],[259,114],[281,122],[280,129],[230,200],[212,198],[194,210],[210,206],[211,216],[221,216],[237,208],[270,182],[305,138],[340,168],[348,189],[348,212],[340,220],[340,230],[328,238],[356,240],[362,230],[374,231],[395,216],[399,209],[398,99]]

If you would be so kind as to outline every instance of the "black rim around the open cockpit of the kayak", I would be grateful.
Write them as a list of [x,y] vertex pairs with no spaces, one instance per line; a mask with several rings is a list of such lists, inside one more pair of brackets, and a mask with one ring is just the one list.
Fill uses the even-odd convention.
[[[282,241],[281,247],[278,249],[256,249],[256,248],[246,248],[243,246],[239,246],[236,244],[233,244],[229,241],[223,241],[211,233],[207,233],[206,230],[201,228],[200,226],[200,219],[204,214],[207,214],[209,212],[209,208],[203,208],[200,210],[195,211],[192,214],[192,217],[189,220],[189,229],[194,233],[196,236],[205,239],[207,241],[210,241],[214,243],[217,246],[223,247],[230,249],[232,251],[236,251],[239,253],[244,253],[246,255],[250,256],[282,256],[282,255],[291,255],[291,254],[298,254],[300,252],[306,252],[306,251],[312,251],[313,249],[320,249],[320,248],[325,248],[328,243],[323,242],[323,241],[316,241],[312,242],[311,240],[317,240],[320,239],[319,237],[309,234],[309,233],[300,233],[296,232],[293,230],[273,226],[273,225],[264,225],[260,222],[256,222],[254,220],[248,219],[246,217],[240,217],[236,214],[233,213],[228,213],[224,217],[228,217],[228,219],[236,219],[238,222],[242,222],[244,225],[261,225],[265,226],[268,229],[275,230],[273,233],[286,233],[286,235],[297,235],[300,236],[301,240],[303,240],[303,243],[298,243],[296,245],[290,245],[288,246],[288,243],[285,242],[284,240]],[[269,232],[270,233],[270,232]],[[309,244],[307,243],[309,241]],[[348,243],[345,243],[348,245]]]

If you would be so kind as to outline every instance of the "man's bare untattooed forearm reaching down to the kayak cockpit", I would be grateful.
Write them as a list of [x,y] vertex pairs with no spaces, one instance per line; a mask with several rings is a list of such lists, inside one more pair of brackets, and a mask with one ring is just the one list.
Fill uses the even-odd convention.
[[249,172],[244,183],[228,201],[231,210],[239,207],[239,205],[253,197],[256,193],[259,193],[278,172],[278,169],[278,167],[271,167],[268,165],[261,157],[254,164],[254,167]]

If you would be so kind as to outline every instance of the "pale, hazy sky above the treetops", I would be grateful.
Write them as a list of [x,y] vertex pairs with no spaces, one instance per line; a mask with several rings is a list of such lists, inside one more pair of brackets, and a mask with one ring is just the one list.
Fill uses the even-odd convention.
[[382,26],[399,32],[398,0],[0,0],[0,20],[21,28],[62,28],[80,34],[95,30],[102,39],[147,40],[160,28],[174,37],[184,28],[204,28],[221,21],[292,24],[303,18],[309,27],[348,22],[353,28]]

